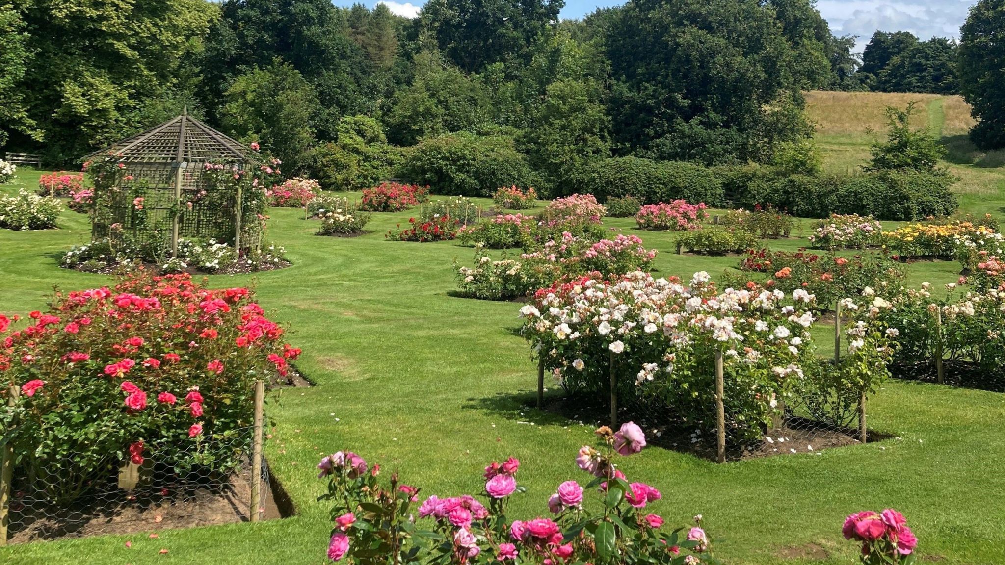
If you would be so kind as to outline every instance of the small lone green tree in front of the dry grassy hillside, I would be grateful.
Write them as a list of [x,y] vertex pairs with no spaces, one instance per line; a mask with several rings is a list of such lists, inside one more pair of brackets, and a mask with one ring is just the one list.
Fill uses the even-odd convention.
[[939,159],[946,155],[946,148],[932,137],[928,128],[911,128],[911,117],[918,114],[917,104],[913,101],[904,110],[886,107],[885,114],[886,141],[872,144],[872,161],[865,170],[941,172]]

